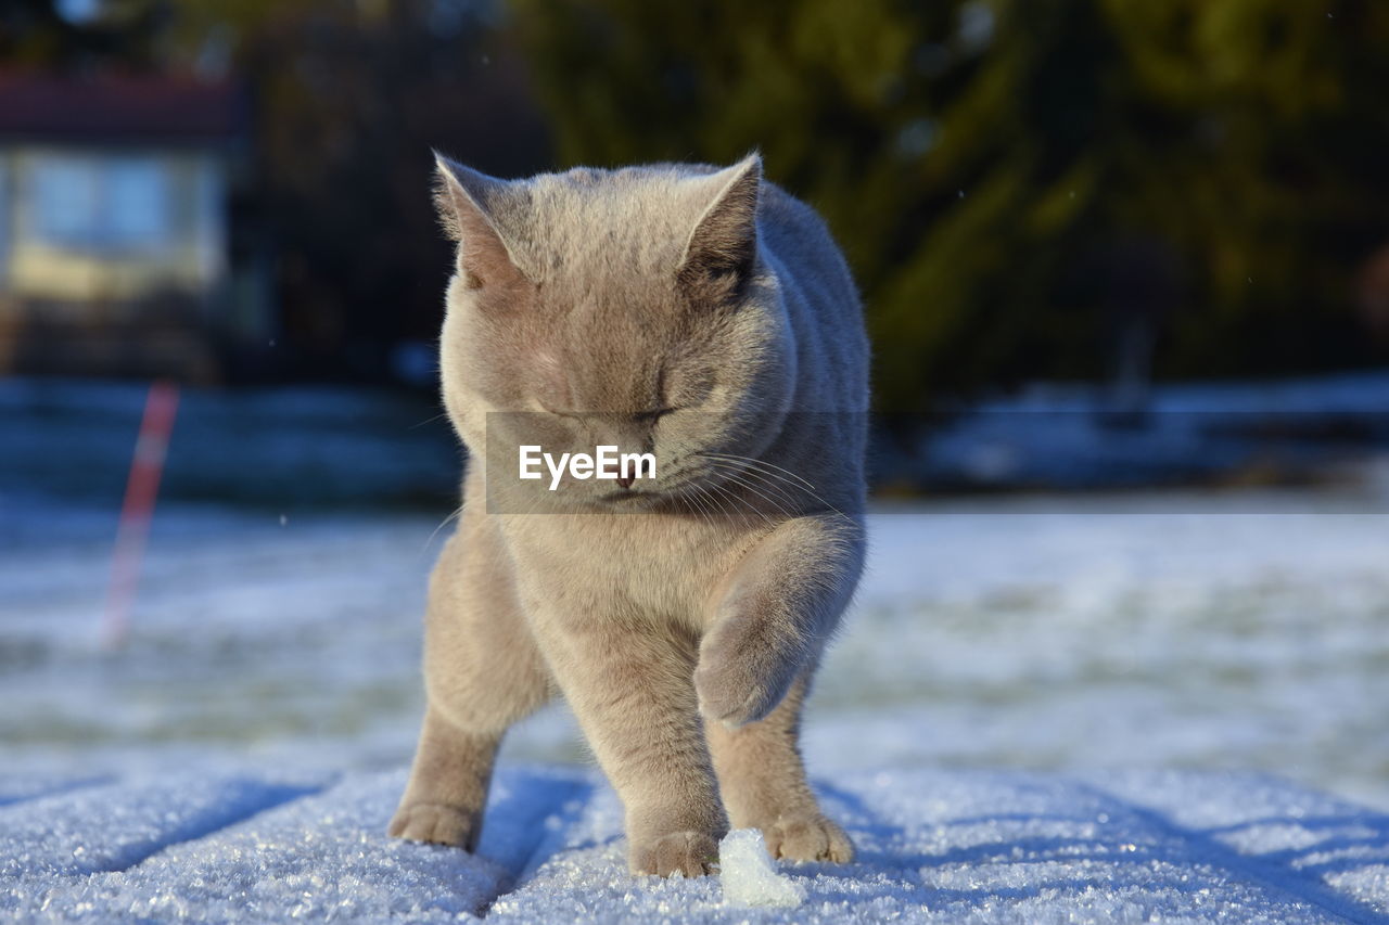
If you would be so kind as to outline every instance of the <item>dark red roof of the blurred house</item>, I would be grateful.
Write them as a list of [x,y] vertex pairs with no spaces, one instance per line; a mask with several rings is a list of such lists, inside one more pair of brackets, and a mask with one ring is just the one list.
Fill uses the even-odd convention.
[[218,143],[242,112],[229,81],[0,72],[0,138]]

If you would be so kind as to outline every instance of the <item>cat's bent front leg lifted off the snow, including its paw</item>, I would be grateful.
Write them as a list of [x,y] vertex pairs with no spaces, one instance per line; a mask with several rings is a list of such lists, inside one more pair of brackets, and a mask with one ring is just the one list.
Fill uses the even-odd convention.
[[758,540],[710,603],[700,712],[731,728],[767,717],[820,657],[863,557],[863,525],[843,514],[793,518]]

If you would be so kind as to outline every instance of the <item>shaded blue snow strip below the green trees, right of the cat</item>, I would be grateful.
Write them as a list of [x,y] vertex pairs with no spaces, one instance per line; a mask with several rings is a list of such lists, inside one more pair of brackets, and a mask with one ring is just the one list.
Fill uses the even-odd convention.
[[885,478],[922,485],[1324,481],[1382,457],[1385,407],[1389,372],[1158,385],[1136,415],[1113,390],[1043,383],[942,415],[914,453],[879,464]]

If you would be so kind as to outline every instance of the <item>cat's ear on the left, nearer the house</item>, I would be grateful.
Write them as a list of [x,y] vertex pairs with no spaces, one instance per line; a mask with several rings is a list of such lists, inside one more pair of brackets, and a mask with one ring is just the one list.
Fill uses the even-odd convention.
[[444,233],[458,242],[458,272],[468,289],[521,278],[494,214],[517,196],[513,183],[435,151],[435,207]]

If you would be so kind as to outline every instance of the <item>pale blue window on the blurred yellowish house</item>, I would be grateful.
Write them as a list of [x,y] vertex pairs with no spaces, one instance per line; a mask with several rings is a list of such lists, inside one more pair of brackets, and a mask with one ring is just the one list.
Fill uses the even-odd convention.
[[46,243],[121,250],[169,236],[169,183],[157,158],[50,156],[32,178],[32,226]]

